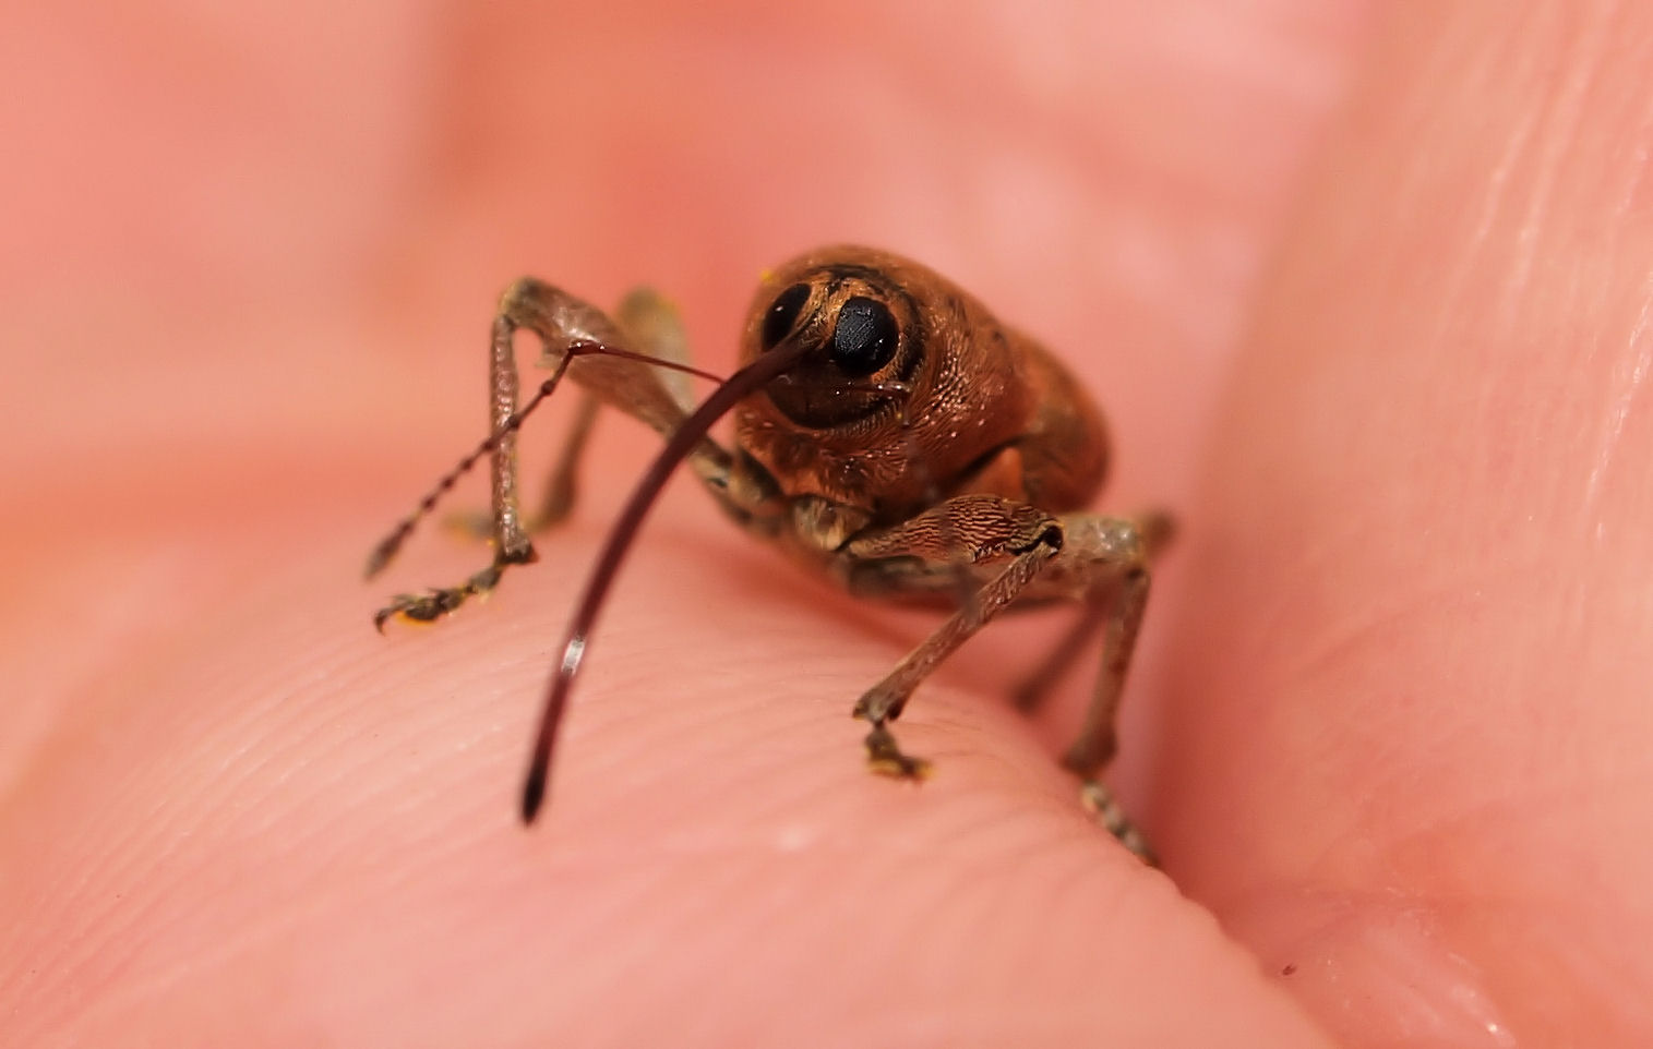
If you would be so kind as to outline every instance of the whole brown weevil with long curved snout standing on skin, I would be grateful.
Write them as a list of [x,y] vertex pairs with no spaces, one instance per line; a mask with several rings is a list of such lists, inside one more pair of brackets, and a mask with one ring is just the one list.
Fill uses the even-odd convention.
[[[514,334],[534,332],[552,375],[517,406]],[[1149,560],[1170,537],[1164,514],[1086,512],[1108,471],[1108,434],[1091,400],[1038,342],[1003,325],[941,274],[869,248],[823,248],[765,274],[741,337],[741,368],[694,405],[673,309],[641,291],[613,314],[524,278],[499,301],[491,344],[491,436],[374,550],[383,568],[415,522],[481,456],[493,466],[493,562],[460,586],[400,595],[374,621],[430,621],[493,590],[536,558],[529,534],[574,502],[585,439],[602,405],[666,438],[608,535],[552,674],[522,791],[532,821],[552,745],[603,596],[626,547],[684,459],[747,532],[784,547],[850,593],[916,600],[950,616],[855,704],[871,724],[871,767],[921,776],[889,722],[959,644],[1010,606],[1078,601],[1078,623],[1017,692],[1031,710],[1103,631],[1103,666],[1079,737],[1063,757],[1083,798],[1141,856],[1142,838],[1096,773],[1116,748],[1114,715],[1149,593]],[[562,377],[582,387],[574,430],[545,502],[522,520],[516,436]],[[709,433],[732,411],[734,444]]]

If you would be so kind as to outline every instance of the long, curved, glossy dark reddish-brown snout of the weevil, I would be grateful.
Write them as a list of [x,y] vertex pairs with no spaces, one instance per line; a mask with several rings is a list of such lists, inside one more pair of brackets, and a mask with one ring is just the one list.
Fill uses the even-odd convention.
[[643,479],[638,481],[613,530],[608,532],[608,542],[597,557],[597,568],[585,585],[585,595],[574,613],[574,621],[569,623],[569,636],[562,644],[562,659],[550,677],[550,684],[545,687],[545,710],[541,715],[539,735],[534,737],[527,780],[522,783],[522,823],[534,823],[534,816],[539,814],[539,809],[545,803],[550,752],[557,745],[557,727],[562,724],[562,712],[567,707],[569,692],[574,689],[574,677],[585,659],[585,649],[590,648],[590,634],[592,628],[597,626],[597,613],[602,610],[603,598],[608,596],[608,588],[620,572],[620,562],[625,560],[631,540],[636,539],[638,529],[643,525],[643,517],[648,515],[648,510],[655,506],[655,499],[666,487],[671,472],[678,469],[717,420],[742,400],[762,390],[782,372],[793,367],[802,360],[803,354],[805,344],[793,340],[765,352],[731,375],[712,390],[711,396],[689,418],[683,420],[683,425],[671,434],[671,439],[650,464]]

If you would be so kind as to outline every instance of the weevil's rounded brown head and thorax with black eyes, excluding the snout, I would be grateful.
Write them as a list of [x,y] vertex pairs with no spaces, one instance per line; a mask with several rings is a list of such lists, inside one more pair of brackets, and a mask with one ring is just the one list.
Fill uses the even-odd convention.
[[742,363],[787,347],[802,357],[737,408],[741,444],[793,494],[874,510],[931,502],[1022,433],[1031,403],[1012,339],[926,266],[812,251],[767,274],[747,316]]

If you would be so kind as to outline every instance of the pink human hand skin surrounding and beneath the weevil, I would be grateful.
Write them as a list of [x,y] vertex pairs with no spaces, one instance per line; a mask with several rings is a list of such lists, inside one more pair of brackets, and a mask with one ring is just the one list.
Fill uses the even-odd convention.
[[[1653,1039],[1653,13],[471,7],[5,15],[0,1041]],[[522,833],[636,426],[486,606],[367,624],[486,557],[355,580],[481,436],[512,276],[655,281],[727,368],[833,240],[1048,340],[1106,506],[1185,524],[1112,776],[1175,887],[1050,758],[1083,682],[1002,702],[1060,623],[917,694],[932,781],[868,776],[848,709],[932,619],[688,484]]]

